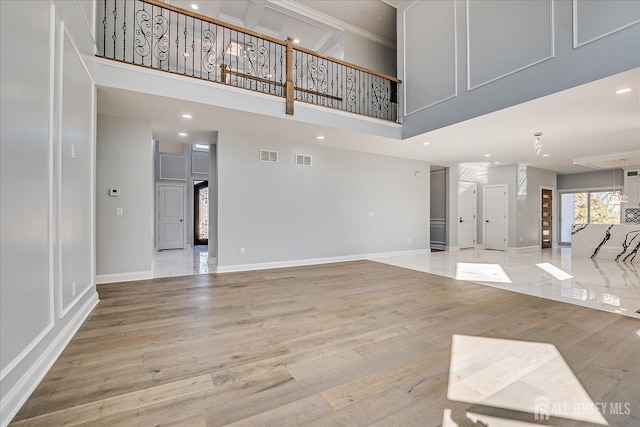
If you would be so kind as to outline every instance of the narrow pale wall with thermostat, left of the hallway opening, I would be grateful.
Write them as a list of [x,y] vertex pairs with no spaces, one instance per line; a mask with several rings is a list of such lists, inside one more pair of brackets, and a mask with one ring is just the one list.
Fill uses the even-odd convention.
[[[151,278],[151,123],[99,115],[96,161],[96,280]],[[121,195],[110,197],[110,188]],[[122,216],[116,216],[116,208],[123,209]]]

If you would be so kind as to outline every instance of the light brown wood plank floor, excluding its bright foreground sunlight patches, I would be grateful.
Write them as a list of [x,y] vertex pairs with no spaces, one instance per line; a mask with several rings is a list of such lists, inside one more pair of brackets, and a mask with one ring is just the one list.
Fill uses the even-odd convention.
[[453,334],[554,344],[594,401],[631,403],[609,425],[640,425],[629,317],[368,261],[98,291],[14,425],[437,426],[445,410],[460,426],[484,425],[467,410],[534,423],[447,398]]

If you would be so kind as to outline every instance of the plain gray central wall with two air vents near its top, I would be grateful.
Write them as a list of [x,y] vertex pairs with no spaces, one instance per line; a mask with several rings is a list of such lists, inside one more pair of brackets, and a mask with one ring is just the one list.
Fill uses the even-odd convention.
[[221,267],[429,247],[428,163],[224,132],[217,162]]

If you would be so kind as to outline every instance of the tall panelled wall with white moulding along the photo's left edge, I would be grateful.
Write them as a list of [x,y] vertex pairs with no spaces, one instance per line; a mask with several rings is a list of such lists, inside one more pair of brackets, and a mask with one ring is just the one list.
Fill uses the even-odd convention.
[[0,2],[0,424],[98,303],[92,10]]

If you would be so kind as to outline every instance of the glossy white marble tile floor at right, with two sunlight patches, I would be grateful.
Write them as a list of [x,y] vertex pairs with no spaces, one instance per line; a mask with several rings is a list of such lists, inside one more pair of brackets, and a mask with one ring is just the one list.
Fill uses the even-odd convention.
[[640,319],[640,265],[572,257],[570,247],[463,249],[372,260]]

